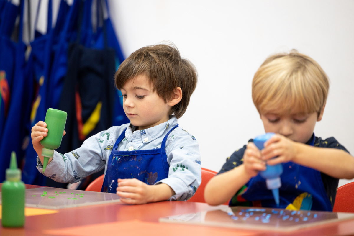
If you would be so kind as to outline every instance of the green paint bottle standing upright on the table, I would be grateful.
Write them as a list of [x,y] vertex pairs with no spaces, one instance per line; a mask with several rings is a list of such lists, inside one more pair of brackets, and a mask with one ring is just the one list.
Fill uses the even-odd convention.
[[25,186],[21,181],[21,169],[17,168],[16,152],[11,152],[10,168],[1,186],[2,219],[4,227],[24,225]]

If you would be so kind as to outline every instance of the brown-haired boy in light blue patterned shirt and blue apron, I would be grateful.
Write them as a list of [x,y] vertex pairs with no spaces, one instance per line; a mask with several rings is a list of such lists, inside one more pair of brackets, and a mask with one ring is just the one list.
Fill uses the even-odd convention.
[[[55,152],[45,175],[75,183],[105,168],[102,191],[116,192],[124,203],[189,199],[201,183],[199,145],[177,119],[196,87],[195,67],[176,47],[152,45],[133,52],[114,77],[130,123],[102,131],[72,152]],[[40,140],[47,132],[43,121],[32,128],[40,172]]]

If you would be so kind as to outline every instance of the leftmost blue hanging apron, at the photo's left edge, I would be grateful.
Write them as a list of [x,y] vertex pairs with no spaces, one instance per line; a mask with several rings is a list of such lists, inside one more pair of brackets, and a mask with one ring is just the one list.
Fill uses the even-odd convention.
[[[23,158],[23,140],[25,137],[25,120],[29,114],[30,100],[28,95],[32,91],[32,77],[29,73],[30,65],[25,60],[25,52],[27,46],[23,43],[23,8],[24,1],[20,3],[19,11],[19,25],[18,25],[18,42],[13,43],[15,51],[11,52],[12,55],[1,54],[4,59],[9,59],[11,56],[15,59],[13,68],[13,77],[10,85],[10,97],[7,119],[3,127],[0,138],[0,183],[5,180],[5,169],[9,167],[11,151],[17,154],[17,163],[19,168],[22,167]],[[5,23],[2,21],[2,23]],[[10,39],[9,39],[10,40]],[[3,52],[1,52],[3,53]],[[7,71],[9,72],[9,71]],[[6,73],[8,76],[10,73]],[[1,82],[1,81],[0,81]],[[2,92],[2,91],[1,91]],[[1,94],[3,95],[3,94]]]

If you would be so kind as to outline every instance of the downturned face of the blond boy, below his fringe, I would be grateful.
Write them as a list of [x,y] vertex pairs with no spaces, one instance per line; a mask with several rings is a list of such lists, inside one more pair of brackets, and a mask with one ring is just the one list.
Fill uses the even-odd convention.
[[297,111],[280,112],[277,110],[261,112],[265,132],[281,134],[295,142],[307,143],[315,129],[316,121],[322,119],[324,109],[318,116],[317,112],[304,114]]

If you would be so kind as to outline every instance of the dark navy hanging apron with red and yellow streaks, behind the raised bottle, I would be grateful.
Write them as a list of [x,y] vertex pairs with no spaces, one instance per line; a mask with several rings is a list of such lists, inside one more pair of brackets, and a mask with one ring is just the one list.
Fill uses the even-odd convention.
[[87,17],[83,16],[90,16],[91,3],[91,0],[81,3],[76,42],[69,45],[68,70],[59,109],[68,114],[65,129],[70,132],[57,149],[61,153],[80,147],[86,138],[112,126],[114,50],[107,45],[104,25],[103,49],[85,47],[80,42],[81,33],[87,35],[82,23],[87,25]]

